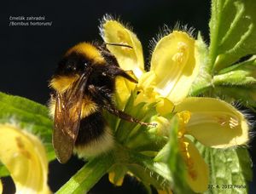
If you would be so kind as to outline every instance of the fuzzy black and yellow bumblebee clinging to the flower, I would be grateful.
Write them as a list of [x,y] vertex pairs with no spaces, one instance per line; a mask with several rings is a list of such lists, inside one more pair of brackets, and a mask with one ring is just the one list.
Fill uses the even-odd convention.
[[137,81],[119,67],[106,44],[79,43],[70,48],[49,81],[53,89],[49,100],[50,114],[54,117],[52,140],[60,163],[67,163],[73,152],[79,157],[91,157],[112,148],[113,134],[102,116],[103,110],[128,122],[149,124],[114,106],[115,78]]

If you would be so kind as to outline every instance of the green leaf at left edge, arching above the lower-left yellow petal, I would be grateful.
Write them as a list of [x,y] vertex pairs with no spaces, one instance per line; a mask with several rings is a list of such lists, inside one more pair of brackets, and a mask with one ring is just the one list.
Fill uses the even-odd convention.
[[51,144],[53,122],[46,106],[20,96],[0,93],[0,123],[15,123],[38,135],[46,148],[49,161],[55,159]]

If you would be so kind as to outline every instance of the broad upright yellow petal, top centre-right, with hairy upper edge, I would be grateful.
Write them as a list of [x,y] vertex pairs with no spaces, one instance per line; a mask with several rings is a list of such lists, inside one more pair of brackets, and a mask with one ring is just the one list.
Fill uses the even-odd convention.
[[173,31],[162,37],[154,48],[151,60],[155,91],[174,104],[183,100],[199,72],[195,55],[195,40],[186,32]]

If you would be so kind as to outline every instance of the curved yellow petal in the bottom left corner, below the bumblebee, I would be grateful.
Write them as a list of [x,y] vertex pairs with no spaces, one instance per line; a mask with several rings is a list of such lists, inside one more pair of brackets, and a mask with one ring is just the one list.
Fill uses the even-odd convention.
[[33,134],[0,124],[0,160],[8,168],[17,193],[50,193],[44,146]]

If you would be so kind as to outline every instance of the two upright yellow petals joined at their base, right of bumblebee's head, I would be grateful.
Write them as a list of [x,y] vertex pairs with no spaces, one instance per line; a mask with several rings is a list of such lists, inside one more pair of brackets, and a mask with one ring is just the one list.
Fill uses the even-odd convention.
[[173,31],[160,39],[154,48],[148,72],[143,69],[142,45],[132,31],[116,20],[107,20],[102,25],[102,32],[106,43],[123,43],[132,47],[108,45],[119,66],[133,71],[138,78],[140,94],[137,103],[158,102],[157,111],[165,115],[189,94],[199,72],[199,63],[195,59],[195,40],[186,32]]

